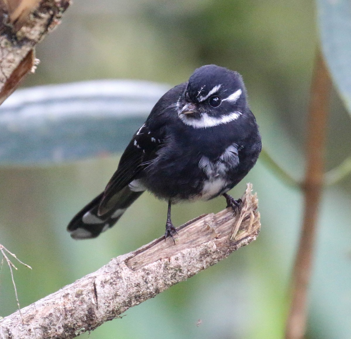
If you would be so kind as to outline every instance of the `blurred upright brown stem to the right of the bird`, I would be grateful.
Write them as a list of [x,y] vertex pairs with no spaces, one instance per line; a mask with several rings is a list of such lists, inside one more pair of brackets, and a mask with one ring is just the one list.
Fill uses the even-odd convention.
[[330,89],[331,79],[322,54],[318,52],[307,122],[304,219],[292,275],[292,302],[286,324],[286,339],[300,339],[305,334],[307,291],[311,278],[318,206],[323,189],[324,145]]

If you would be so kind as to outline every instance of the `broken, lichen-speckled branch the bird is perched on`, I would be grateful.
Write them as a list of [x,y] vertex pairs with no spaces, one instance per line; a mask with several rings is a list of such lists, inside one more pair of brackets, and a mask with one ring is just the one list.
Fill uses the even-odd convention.
[[[236,216],[231,208],[202,215],[164,237],[112,259],[94,273],[0,321],[1,339],[73,338],[214,265],[256,239],[256,194],[248,184]],[[232,239],[232,240],[231,240]]]

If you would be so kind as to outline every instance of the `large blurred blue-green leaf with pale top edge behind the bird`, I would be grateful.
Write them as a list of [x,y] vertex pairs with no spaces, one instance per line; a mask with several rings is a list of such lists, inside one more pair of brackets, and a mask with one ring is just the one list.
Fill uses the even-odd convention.
[[165,85],[96,80],[18,90],[0,107],[0,164],[38,164],[124,150]]

